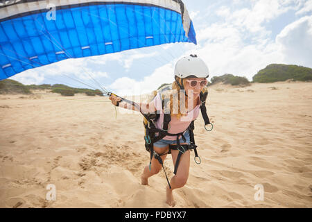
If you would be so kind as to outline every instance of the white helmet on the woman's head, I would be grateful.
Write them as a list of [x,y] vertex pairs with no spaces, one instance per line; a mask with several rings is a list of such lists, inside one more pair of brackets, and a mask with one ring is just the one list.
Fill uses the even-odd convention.
[[175,64],[175,76],[180,78],[208,78],[209,69],[206,63],[196,55],[184,56]]

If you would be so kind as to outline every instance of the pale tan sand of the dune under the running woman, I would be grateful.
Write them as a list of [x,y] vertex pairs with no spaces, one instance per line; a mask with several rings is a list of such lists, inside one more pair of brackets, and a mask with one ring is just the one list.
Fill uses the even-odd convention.
[[[312,207],[311,92],[312,83],[210,87],[214,130],[198,117],[202,163],[192,152],[175,207]],[[141,115],[115,116],[106,97],[1,95],[0,125],[0,207],[169,207],[164,171],[141,185]],[[171,155],[165,167],[172,177]]]

